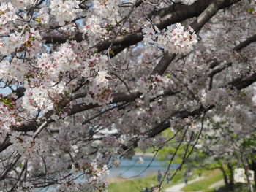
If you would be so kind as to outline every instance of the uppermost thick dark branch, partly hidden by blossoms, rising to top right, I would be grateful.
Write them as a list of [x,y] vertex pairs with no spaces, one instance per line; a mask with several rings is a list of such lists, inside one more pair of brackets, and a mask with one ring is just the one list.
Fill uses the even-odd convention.
[[[232,4],[235,4],[240,0],[229,0],[225,1],[225,4],[220,7],[221,9],[225,7],[229,7]],[[205,0],[199,0],[196,1],[192,5],[171,5],[169,8],[165,8],[161,11],[159,11],[159,15],[163,15],[163,17],[159,20],[155,20],[154,23],[157,25],[158,28],[166,28],[167,26],[170,26],[171,24],[181,22],[182,20],[187,20],[188,18],[197,17],[200,15],[206,7],[211,3],[211,1],[205,1]],[[173,12],[174,11],[174,12]],[[155,15],[152,13],[152,15]],[[157,18],[157,15],[156,15]],[[45,36],[43,37],[46,43],[64,43],[69,40],[76,40],[77,42],[80,42],[83,40],[83,34],[75,34],[73,37],[63,37],[63,36]],[[112,39],[106,40],[105,42],[99,43],[97,45],[97,50],[107,50],[110,47],[111,42],[113,42],[112,52],[113,55],[117,55],[122,50],[124,50],[126,47],[129,47],[131,45],[135,45],[138,42],[143,40],[143,34],[141,32],[141,29],[139,31],[136,31],[129,35],[121,35],[116,38],[116,40],[113,42]]]

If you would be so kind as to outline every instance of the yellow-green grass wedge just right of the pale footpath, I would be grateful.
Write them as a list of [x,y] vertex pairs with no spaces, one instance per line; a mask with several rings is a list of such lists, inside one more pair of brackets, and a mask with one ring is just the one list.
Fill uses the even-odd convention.
[[222,179],[222,172],[220,172],[219,170],[204,172],[202,180],[198,180],[195,183],[186,185],[182,190],[189,192],[207,190],[210,185],[217,183],[219,180]]

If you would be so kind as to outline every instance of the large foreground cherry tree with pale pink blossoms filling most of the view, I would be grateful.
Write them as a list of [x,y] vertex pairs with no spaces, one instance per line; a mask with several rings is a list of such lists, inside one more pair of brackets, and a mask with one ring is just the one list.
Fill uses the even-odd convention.
[[230,149],[255,139],[255,0],[0,2],[4,191],[107,191],[135,147],[173,141],[178,172],[211,147],[209,118],[232,124]]

